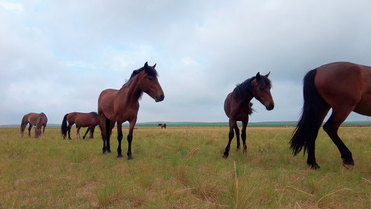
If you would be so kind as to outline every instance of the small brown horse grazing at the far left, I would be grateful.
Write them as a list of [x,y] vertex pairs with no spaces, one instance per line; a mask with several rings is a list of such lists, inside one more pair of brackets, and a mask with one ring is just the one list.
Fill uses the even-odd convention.
[[35,125],[35,138],[40,137],[41,127],[43,127],[42,137],[44,137],[45,127],[47,127],[47,116],[43,112],[40,114],[29,113],[23,116],[21,123],[21,137],[23,137],[24,130],[26,129],[28,123],[30,124],[29,137],[31,137],[31,129],[33,125]]

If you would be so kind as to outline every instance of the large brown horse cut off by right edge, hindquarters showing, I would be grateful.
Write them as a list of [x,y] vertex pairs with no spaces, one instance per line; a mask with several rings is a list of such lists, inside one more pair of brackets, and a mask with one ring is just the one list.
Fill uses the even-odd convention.
[[371,67],[338,62],[310,70],[303,79],[303,97],[301,118],[290,140],[294,155],[304,148],[304,154],[308,152],[307,164],[311,169],[319,169],[315,139],[332,108],[323,129],[338,147],[343,166],[352,168],[352,153],[338,136],[338,128],[352,111],[371,116]]

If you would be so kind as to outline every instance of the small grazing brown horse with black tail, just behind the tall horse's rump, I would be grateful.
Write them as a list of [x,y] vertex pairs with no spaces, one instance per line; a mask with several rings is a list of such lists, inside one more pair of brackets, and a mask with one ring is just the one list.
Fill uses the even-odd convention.
[[[68,125],[67,125],[68,123]],[[86,130],[83,139],[85,139],[86,134],[90,131],[89,138],[93,139],[94,138],[94,130],[95,126],[100,125],[100,120],[99,116],[96,112],[92,111],[90,113],[81,113],[81,112],[72,112],[69,114],[65,114],[63,117],[62,121],[62,126],[61,126],[61,133],[63,136],[63,139],[65,139],[67,132],[68,132],[68,139],[71,139],[70,132],[71,132],[71,127],[76,123],[77,127],[77,133],[76,133],[76,138],[81,138],[80,137],[80,128],[81,127],[88,127],[88,130]]]

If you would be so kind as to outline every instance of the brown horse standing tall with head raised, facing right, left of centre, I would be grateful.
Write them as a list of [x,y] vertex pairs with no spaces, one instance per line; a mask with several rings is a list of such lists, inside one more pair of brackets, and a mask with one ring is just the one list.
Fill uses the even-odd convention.
[[103,138],[103,153],[111,153],[109,137],[117,122],[118,148],[117,157],[123,157],[121,153],[121,141],[123,139],[122,125],[129,121],[129,134],[127,134],[127,160],[132,160],[132,139],[136,118],[139,111],[139,99],[143,92],[155,99],[156,102],[164,100],[164,91],[157,80],[155,65],[152,67],[145,63],[139,70],[134,70],[129,81],[120,88],[106,89],[100,93],[98,99],[98,114]]

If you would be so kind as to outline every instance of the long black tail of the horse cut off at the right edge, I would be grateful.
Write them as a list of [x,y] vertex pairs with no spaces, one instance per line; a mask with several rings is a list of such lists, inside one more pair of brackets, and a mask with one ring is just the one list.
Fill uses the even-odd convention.
[[303,98],[304,104],[301,110],[301,117],[292,139],[290,149],[294,155],[300,153],[304,147],[304,155],[308,147],[315,143],[319,127],[323,122],[324,100],[320,97],[315,88],[315,74],[317,69],[310,70],[303,79]]

